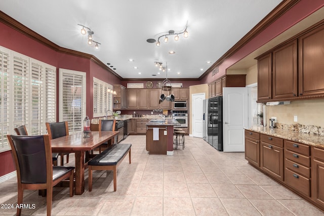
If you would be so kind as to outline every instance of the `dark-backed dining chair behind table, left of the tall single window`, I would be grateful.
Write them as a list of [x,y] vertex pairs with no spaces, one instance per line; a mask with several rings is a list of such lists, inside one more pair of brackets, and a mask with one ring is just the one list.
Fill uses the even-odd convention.
[[[46,128],[51,140],[69,135],[69,127],[67,121],[46,122]],[[66,155],[66,162],[69,162],[69,153],[60,153],[61,166],[64,165],[64,155]]]

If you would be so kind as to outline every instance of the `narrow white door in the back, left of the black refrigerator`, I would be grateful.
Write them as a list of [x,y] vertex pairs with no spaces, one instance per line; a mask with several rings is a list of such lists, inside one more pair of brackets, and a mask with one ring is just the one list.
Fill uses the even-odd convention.
[[203,102],[205,100],[205,93],[192,94],[192,136],[203,138]]

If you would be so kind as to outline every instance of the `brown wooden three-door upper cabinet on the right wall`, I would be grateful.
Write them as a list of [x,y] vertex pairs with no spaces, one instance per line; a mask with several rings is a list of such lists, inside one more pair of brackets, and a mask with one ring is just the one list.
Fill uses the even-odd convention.
[[324,23],[305,32],[257,58],[258,102],[324,97]]

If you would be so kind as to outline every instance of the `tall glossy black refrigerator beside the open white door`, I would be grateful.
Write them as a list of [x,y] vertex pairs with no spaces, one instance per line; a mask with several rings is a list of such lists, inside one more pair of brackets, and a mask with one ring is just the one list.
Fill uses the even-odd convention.
[[218,151],[223,151],[223,97],[204,100],[203,138]]

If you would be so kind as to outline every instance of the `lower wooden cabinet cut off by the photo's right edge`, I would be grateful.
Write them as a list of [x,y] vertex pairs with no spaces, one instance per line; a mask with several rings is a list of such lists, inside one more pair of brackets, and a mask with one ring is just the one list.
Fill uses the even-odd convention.
[[312,147],[312,200],[324,209],[324,149]]

